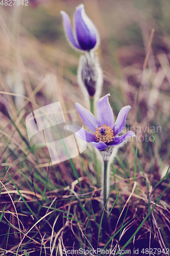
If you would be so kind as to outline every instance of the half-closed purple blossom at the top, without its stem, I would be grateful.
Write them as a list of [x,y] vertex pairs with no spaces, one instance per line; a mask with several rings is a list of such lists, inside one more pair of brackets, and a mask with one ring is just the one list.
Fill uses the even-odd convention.
[[73,47],[82,51],[89,51],[99,45],[99,35],[94,24],[84,10],[84,5],[76,8],[74,15],[74,33],[72,32],[70,18],[67,13],[61,11],[65,34]]

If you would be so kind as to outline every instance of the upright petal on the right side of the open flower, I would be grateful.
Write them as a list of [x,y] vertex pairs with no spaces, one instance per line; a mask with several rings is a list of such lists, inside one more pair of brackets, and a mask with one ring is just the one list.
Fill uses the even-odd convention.
[[128,115],[128,112],[130,110],[130,106],[124,106],[118,113],[117,119],[115,121],[115,124],[113,126],[113,133],[114,136],[117,136],[119,133],[122,132],[122,130],[125,127],[126,117]]

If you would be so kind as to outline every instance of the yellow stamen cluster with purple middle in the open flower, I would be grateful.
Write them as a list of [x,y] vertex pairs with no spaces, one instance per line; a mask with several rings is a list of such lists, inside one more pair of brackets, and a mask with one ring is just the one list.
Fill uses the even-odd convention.
[[103,124],[103,126],[101,125],[96,129],[94,135],[96,140],[99,140],[100,142],[103,141],[105,143],[112,141],[114,138],[113,130],[111,130],[111,127],[106,124]]

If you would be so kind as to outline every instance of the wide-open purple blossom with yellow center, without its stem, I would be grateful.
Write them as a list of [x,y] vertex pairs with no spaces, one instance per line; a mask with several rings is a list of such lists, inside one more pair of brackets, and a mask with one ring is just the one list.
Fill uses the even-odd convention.
[[118,136],[125,127],[126,117],[130,110],[130,106],[124,106],[117,116],[114,122],[113,111],[108,101],[108,95],[102,97],[97,104],[97,119],[93,114],[85,109],[79,103],[76,103],[76,108],[87,127],[91,130],[88,132],[81,129],[76,125],[66,125],[65,129],[75,133],[81,139],[90,142],[98,150],[104,150],[108,146],[122,146],[126,143],[129,137],[135,136],[134,132],[129,131],[128,133]]

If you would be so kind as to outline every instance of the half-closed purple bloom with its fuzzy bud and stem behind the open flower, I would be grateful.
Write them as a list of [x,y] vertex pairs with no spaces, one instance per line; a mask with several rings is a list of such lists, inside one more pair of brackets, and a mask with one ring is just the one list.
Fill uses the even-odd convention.
[[83,5],[76,8],[73,30],[68,14],[64,11],[61,14],[69,44],[76,50],[85,52],[85,56],[82,55],[79,61],[78,83],[85,98],[89,97],[90,109],[94,113],[94,95],[95,100],[98,100],[103,83],[102,70],[95,52],[100,44],[99,33],[85,13]]

